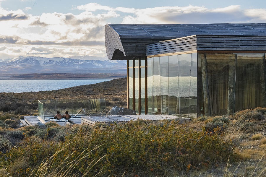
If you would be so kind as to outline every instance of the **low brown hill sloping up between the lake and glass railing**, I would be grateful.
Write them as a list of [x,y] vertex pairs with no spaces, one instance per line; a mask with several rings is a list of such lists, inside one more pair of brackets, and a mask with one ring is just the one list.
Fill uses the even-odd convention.
[[116,99],[126,102],[126,78],[60,90],[0,93],[0,103],[31,102],[50,99]]

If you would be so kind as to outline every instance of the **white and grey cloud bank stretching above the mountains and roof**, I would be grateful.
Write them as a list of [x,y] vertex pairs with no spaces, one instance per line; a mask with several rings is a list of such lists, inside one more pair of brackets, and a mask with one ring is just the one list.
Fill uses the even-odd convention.
[[215,9],[192,5],[134,9],[89,3],[73,8],[80,10],[79,14],[23,12],[29,9],[8,11],[0,6],[1,56],[106,56],[104,25],[114,21],[127,24],[266,22],[266,9],[241,9],[240,5]]

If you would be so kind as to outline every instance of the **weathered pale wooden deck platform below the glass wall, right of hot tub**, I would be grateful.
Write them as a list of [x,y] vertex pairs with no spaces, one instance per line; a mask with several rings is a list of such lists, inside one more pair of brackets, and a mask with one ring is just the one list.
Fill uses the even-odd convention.
[[[114,122],[127,122],[127,121],[135,121],[135,120],[163,120],[163,119],[175,119],[180,118],[172,115],[117,115],[117,116],[81,116],[82,124],[94,125],[95,123],[106,123],[111,124]],[[189,118],[185,118],[189,119]]]

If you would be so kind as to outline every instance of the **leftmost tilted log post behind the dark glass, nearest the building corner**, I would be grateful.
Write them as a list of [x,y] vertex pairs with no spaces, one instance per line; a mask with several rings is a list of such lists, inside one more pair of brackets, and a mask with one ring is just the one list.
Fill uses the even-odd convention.
[[202,74],[202,87],[203,87],[203,104],[204,104],[204,113],[205,116],[210,115],[210,108],[209,108],[209,91],[208,91],[208,77],[207,77],[207,61],[206,61],[206,54],[201,54],[204,57],[201,57],[201,74]]

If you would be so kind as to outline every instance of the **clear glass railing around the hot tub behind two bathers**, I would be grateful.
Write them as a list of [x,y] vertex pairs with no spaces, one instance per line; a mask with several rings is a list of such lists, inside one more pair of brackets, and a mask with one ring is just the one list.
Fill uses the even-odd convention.
[[[85,110],[86,116],[106,115],[105,99],[90,100],[38,100],[38,114],[41,118],[53,117],[60,111],[64,114],[69,111],[69,115],[75,116],[81,109]],[[77,116],[84,116],[84,113]]]

